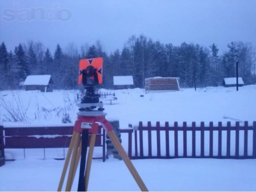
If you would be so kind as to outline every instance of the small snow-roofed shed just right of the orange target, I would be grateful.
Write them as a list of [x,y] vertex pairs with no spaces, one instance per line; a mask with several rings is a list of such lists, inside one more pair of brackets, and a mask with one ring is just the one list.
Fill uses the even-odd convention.
[[113,76],[114,89],[134,88],[132,76]]

